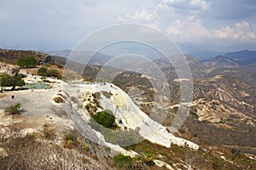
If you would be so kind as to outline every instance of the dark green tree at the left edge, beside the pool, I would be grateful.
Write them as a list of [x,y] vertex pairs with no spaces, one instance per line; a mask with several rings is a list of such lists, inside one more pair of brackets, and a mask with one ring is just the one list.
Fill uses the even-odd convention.
[[15,89],[16,86],[24,86],[25,82],[19,74],[15,74],[13,77],[9,75],[1,77],[0,85],[2,87],[13,87],[12,89]]

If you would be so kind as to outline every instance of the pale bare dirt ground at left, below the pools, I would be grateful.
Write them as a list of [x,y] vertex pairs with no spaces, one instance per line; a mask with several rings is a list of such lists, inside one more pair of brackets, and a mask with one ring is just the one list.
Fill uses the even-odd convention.
[[[59,87],[58,87],[59,86]],[[22,129],[32,128],[41,132],[45,126],[55,129],[56,136],[61,137],[68,130],[73,130],[61,105],[53,100],[59,92],[60,85],[51,89],[21,90],[3,92],[0,95],[0,127],[15,126]],[[11,96],[15,95],[15,99]],[[9,105],[20,103],[21,113],[9,115],[4,111]]]

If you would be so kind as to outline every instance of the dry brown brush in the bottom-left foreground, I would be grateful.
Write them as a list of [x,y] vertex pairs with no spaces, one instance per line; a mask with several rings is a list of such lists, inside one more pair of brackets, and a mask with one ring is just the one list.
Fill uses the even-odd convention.
[[32,135],[1,142],[8,156],[0,156],[0,169],[91,169],[90,160],[74,150],[39,142]]

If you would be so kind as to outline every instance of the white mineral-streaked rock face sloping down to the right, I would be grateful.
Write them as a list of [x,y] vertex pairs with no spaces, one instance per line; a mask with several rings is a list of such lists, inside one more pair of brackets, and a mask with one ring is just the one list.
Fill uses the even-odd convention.
[[[143,139],[148,139],[152,143],[166,147],[170,147],[171,144],[177,144],[181,146],[187,145],[195,150],[199,148],[197,144],[189,140],[177,138],[172,133],[168,133],[166,127],[150,119],[150,117],[133,103],[123,90],[113,84],[80,84],[78,86],[79,90],[77,90],[77,92],[79,93],[75,95],[83,95],[80,99],[83,107],[87,107],[87,109],[89,107],[88,105],[96,107],[95,112],[102,110],[112,111],[119,129],[123,131],[134,130],[139,133]],[[74,91],[75,90],[73,90],[73,92]],[[96,98],[96,94],[98,98]],[[88,111],[83,111],[81,117],[87,122],[90,120]],[[75,119],[81,117],[77,116]]]

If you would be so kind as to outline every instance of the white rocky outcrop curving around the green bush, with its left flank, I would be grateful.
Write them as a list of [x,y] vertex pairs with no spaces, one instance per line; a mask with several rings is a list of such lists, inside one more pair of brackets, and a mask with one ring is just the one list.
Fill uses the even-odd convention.
[[[137,105],[133,103],[130,97],[125,94],[123,90],[109,83],[101,84],[79,84],[73,86],[66,86],[67,94],[72,94],[73,98],[80,98],[81,103],[76,106],[69,101],[69,109],[67,114],[71,117],[76,125],[79,125],[81,133],[86,137],[93,137],[93,140],[103,142],[102,135],[96,133],[90,126],[82,123],[90,120],[90,114],[85,109],[78,109],[79,105],[82,108],[85,105],[94,105],[96,111],[110,110],[116,118],[116,124],[121,130],[133,130],[140,134],[143,139],[148,139],[150,142],[160,144],[166,147],[171,147],[172,144],[180,146],[188,146],[197,150],[199,146],[189,140],[177,138],[172,133],[168,133],[166,127],[158,122],[154,122]],[[96,93],[100,94],[98,98],[93,97]],[[108,95],[107,95],[107,94]],[[95,105],[93,101],[97,101]],[[82,128],[81,128],[82,127]],[[98,139],[95,139],[98,138]]]

